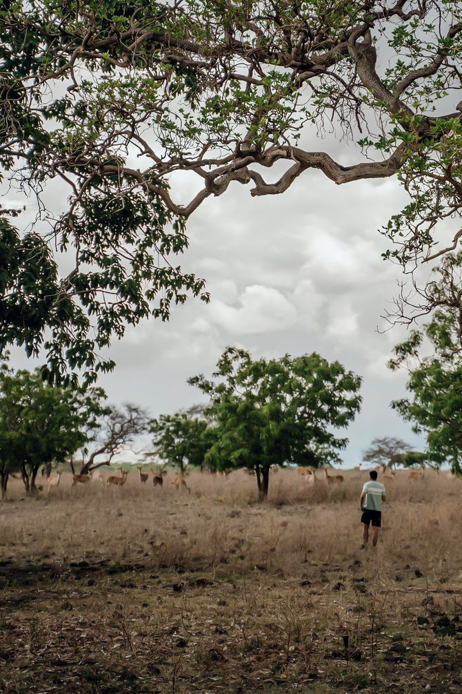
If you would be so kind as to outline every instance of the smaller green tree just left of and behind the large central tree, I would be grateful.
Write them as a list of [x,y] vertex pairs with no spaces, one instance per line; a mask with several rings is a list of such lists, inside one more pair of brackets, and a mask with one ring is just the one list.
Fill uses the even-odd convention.
[[205,419],[189,412],[161,414],[150,421],[156,453],[166,463],[179,468],[184,475],[186,466],[204,468],[207,451],[213,443],[215,429]]

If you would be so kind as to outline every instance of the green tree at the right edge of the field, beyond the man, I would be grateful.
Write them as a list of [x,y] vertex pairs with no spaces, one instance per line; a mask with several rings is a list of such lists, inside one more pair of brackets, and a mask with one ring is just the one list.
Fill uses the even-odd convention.
[[426,435],[427,450],[420,455],[437,466],[450,462],[454,473],[462,472],[461,266],[461,253],[447,257],[438,270],[441,280],[429,285],[438,302],[431,320],[398,344],[389,362],[391,369],[409,373],[410,397],[392,406]]

